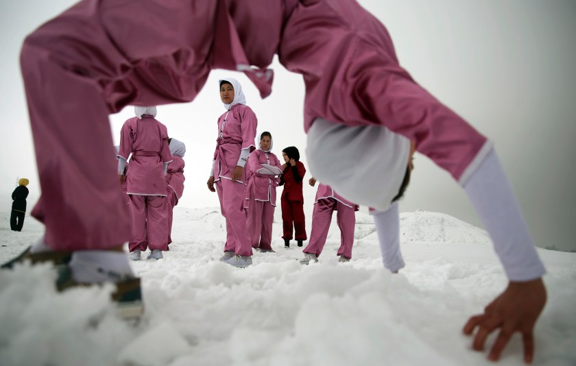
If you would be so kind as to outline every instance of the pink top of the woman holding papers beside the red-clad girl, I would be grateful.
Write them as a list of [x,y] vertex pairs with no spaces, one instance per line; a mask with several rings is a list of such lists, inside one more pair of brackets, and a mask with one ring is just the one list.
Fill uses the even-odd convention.
[[274,153],[261,149],[252,151],[245,166],[246,182],[248,182],[245,207],[250,204],[250,199],[270,202],[272,206],[276,206],[276,187],[278,182],[280,182],[280,178],[276,178],[275,175],[259,174],[258,171],[263,168],[262,164],[278,167],[282,171],[282,164],[280,164],[280,160]]

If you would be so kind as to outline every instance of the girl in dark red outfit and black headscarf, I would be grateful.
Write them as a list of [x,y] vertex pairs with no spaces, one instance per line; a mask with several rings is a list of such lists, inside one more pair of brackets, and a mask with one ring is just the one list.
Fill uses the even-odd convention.
[[292,226],[296,231],[296,241],[302,247],[302,241],[307,239],[306,224],[304,222],[304,196],[302,195],[302,180],[306,174],[304,164],[300,162],[300,152],[296,147],[290,146],[282,150],[285,164],[282,164],[283,175],[279,186],[284,186],[280,202],[282,204],[282,226],[284,234],[284,247],[290,247],[292,239]]

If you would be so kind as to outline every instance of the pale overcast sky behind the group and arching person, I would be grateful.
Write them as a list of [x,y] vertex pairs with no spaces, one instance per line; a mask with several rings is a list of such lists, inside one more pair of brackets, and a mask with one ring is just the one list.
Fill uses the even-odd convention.
[[[2,0],[0,13],[0,194],[25,177],[31,201],[40,194],[34,147],[19,71],[24,37],[75,1]],[[392,34],[400,63],[422,86],[496,145],[536,244],[576,249],[576,3],[539,0],[361,0]],[[187,144],[180,204],[218,206],[206,180],[224,112],[217,80],[237,77],[259,132],[274,137],[273,151],[294,145],[304,156],[304,87],[300,75],[274,62],[272,96],[261,100],[238,73],[213,71],[192,103],[160,106],[158,120]],[[132,108],[110,117],[115,143]],[[400,209],[445,212],[481,225],[464,191],[427,158],[416,155],[411,186]],[[308,173],[306,178],[311,175]],[[315,188],[304,188],[313,204]],[[10,210],[10,207],[3,208]],[[311,217],[307,218],[311,220]]]

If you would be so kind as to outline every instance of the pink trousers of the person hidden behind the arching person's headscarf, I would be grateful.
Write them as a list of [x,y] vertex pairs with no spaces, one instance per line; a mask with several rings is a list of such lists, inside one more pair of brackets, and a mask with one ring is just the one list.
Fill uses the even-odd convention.
[[356,225],[355,210],[333,198],[320,199],[314,205],[310,241],[302,252],[316,254],[317,256],[322,254],[322,248],[324,248],[326,243],[326,236],[328,236],[328,229],[330,228],[334,210],[337,211],[336,218],[338,228],[340,228],[341,240],[337,255],[348,259],[352,258],[352,245],[354,244],[354,229]]

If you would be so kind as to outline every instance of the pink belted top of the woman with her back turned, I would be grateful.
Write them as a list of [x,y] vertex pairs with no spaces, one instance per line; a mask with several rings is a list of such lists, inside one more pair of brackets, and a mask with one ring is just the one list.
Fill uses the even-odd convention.
[[128,194],[165,196],[163,163],[172,161],[166,126],[147,115],[125,121],[120,132],[118,155],[127,160],[130,154],[130,169],[126,176]]

